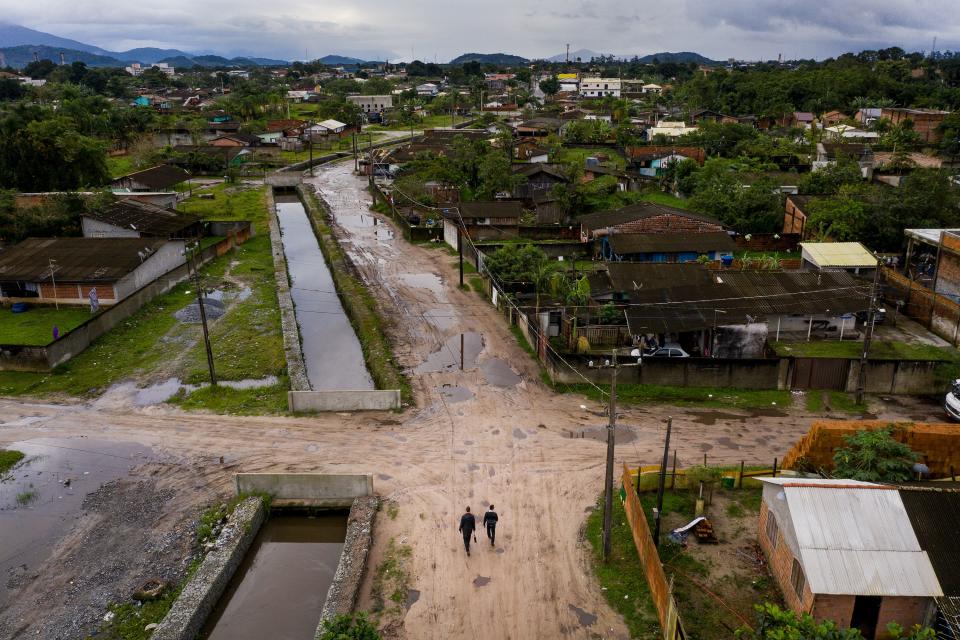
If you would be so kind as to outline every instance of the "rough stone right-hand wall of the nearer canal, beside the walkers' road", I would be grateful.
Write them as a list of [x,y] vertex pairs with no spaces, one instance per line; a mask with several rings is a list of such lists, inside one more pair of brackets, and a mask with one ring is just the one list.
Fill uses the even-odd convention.
[[360,496],[350,507],[347,520],[347,535],[343,541],[343,551],[337,563],[337,572],[327,591],[320,622],[317,625],[316,638],[323,635],[323,623],[340,614],[353,611],[360,594],[360,585],[367,567],[370,547],[373,545],[373,521],[380,508],[377,496]]

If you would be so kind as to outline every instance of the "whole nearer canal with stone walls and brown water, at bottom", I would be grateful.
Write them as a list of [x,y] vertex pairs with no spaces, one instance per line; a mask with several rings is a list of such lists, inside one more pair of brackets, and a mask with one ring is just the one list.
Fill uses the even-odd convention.
[[379,504],[372,477],[238,474],[236,486],[255,495],[234,509],[153,640],[309,640],[353,610]]

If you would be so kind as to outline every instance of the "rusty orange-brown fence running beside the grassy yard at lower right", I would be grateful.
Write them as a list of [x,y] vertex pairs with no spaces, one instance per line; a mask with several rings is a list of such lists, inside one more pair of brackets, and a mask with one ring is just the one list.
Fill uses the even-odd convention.
[[623,507],[633,533],[633,544],[637,548],[640,564],[643,565],[647,585],[650,587],[650,596],[657,608],[657,617],[660,628],[663,630],[664,640],[682,640],[685,636],[680,623],[680,614],[677,610],[677,601],[673,597],[671,585],[667,582],[667,575],[660,563],[660,556],[653,544],[650,527],[647,525],[647,516],[643,513],[643,505],[633,489],[633,476],[630,468],[623,465]]

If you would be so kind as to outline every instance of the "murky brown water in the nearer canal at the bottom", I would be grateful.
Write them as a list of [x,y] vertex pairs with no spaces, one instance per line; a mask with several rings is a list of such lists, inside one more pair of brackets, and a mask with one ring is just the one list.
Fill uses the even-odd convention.
[[337,571],[347,512],[274,512],[201,633],[207,640],[312,638]]

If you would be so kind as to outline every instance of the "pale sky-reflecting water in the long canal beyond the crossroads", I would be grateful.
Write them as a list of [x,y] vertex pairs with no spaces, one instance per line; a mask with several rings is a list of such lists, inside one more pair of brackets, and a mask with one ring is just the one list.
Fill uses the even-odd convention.
[[373,389],[360,341],[337,297],[303,204],[296,196],[278,195],[276,201],[310,386],[317,391]]

